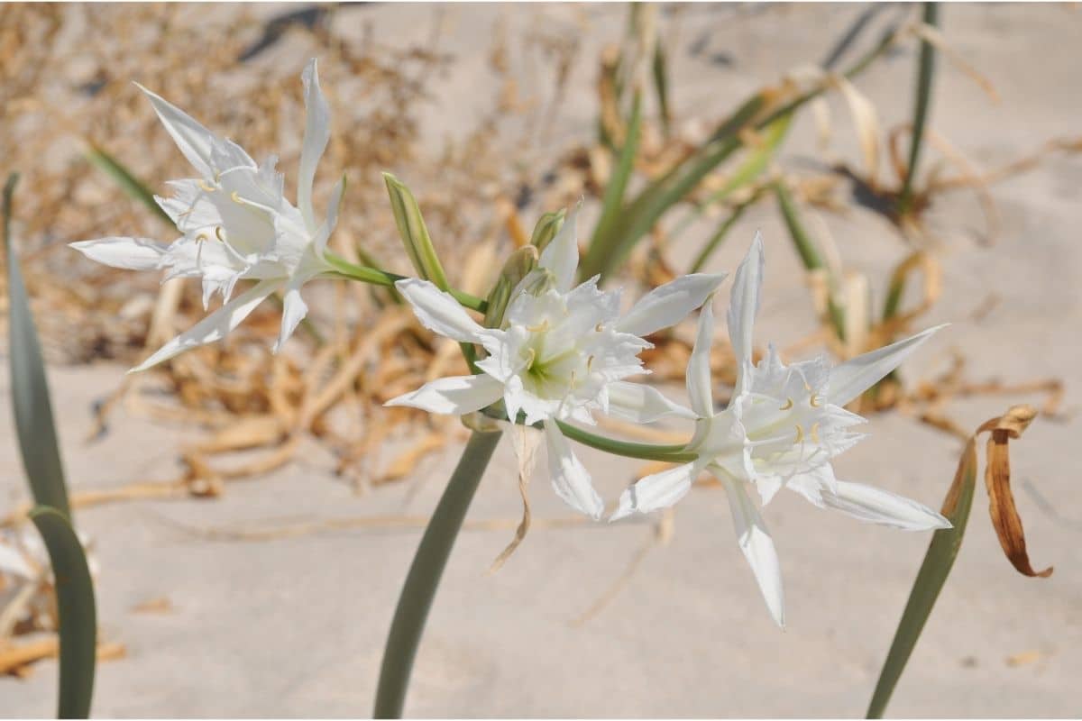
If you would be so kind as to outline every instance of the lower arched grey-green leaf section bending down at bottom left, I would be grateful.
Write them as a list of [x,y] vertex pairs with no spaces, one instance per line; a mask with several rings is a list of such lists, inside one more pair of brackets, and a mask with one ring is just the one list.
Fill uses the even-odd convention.
[[90,718],[97,652],[97,616],[94,584],[87,555],[67,517],[55,508],[30,511],[53,569],[56,611],[60,616],[60,697],[56,718]]

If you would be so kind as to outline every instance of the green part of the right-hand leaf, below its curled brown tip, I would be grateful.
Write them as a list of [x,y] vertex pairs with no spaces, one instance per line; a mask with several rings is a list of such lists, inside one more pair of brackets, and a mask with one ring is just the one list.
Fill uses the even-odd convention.
[[932,607],[939,598],[939,591],[947,583],[947,576],[954,565],[958,551],[962,547],[962,537],[965,535],[965,526],[969,520],[969,509],[973,506],[973,492],[977,478],[977,449],[975,439],[969,439],[959,462],[958,471],[954,475],[954,482],[947,494],[944,503],[942,515],[953,524],[952,529],[936,531],[932,536],[932,544],[928,552],[924,555],[924,562],[916,574],[913,589],[909,593],[909,601],[906,610],[901,614],[898,623],[898,630],[895,631],[894,642],[887,653],[883,670],[880,672],[879,681],[875,683],[875,691],[872,694],[871,704],[868,707],[869,719],[881,719],[886,710],[886,705],[890,700],[901,672],[906,668],[916,640],[924,630],[924,624],[932,614]]

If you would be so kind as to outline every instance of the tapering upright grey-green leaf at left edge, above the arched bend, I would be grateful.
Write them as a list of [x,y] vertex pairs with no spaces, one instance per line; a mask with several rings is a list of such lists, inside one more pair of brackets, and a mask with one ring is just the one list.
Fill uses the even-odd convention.
[[23,468],[38,505],[52,506],[70,516],[64,464],[61,462],[49,382],[41,360],[41,346],[11,238],[12,196],[18,174],[12,173],[3,189],[3,237],[8,246],[9,353],[11,402]]

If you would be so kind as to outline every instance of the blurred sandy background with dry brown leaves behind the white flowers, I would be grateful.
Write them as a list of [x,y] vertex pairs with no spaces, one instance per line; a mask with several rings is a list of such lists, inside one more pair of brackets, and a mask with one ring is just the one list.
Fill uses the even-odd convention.
[[[280,356],[269,352],[279,311],[265,304],[225,343],[128,376],[202,317],[198,289],[159,286],[66,245],[175,236],[145,201],[192,170],[133,82],[256,159],[278,155],[292,196],[299,76],[316,56],[332,108],[317,206],[345,173],[332,246],[347,258],[410,272],[381,171],[412,188],[452,281],[478,294],[542,213],[580,198],[589,257],[606,193],[628,177],[618,214],[642,223],[615,233],[626,241],[619,252],[593,257],[625,302],[691,269],[731,271],[758,229],[764,348],[836,360],[952,323],[861,401],[871,438],[835,468],[938,507],[964,439],[1029,403],[1040,414],[1012,444],[1014,493],[1034,568],[1056,573],[1011,568],[978,480],[962,552],[889,710],[1077,716],[1082,14],[947,4],[929,30],[921,13],[893,3],[0,6],[0,170],[23,176],[12,237],[94,556],[95,713],[369,713],[401,580],[465,437],[454,418],[381,408],[425,377],[461,372],[454,344],[420,332],[382,292],[317,281],[306,288],[311,324]],[[923,114],[922,42],[936,57]],[[692,337],[687,323],[655,338],[647,358],[675,398]],[[731,378],[718,345],[715,371]],[[6,373],[0,398],[9,403]],[[0,544],[29,552],[6,412],[0,441]],[[608,499],[646,472],[584,449],[582,458]],[[925,535],[773,502],[781,631],[718,489],[608,526],[569,517],[543,468],[535,481],[529,534],[486,574],[522,513],[504,441],[451,557],[407,713],[863,713]],[[0,601],[17,589],[0,575]],[[49,645],[26,652],[51,632],[38,601],[0,624],[5,716],[51,709]]]

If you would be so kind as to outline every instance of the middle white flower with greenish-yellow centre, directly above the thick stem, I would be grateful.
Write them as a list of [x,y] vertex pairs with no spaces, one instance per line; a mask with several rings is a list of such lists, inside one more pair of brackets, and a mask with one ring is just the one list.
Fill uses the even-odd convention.
[[601,291],[597,278],[571,288],[579,264],[575,214],[519,283],[502,329],[474,322],[449,294],[421,280],[395,285],[428,329],[461,343],[481,345],[480,373],[440,378],[387,405],[464,414],[503,400],[507,417],[519,411],[544,429],[556,494],[595,520],[604,512],[590,473],[571,452],[557,420],[594,423],[592,413],[648,423],[668,415],[694,417],[656,389],[623,380],[646,373],[642,336],[673,325],[713,293],[724,276],[678,278],[644,296],[620,317],[620,292]]

